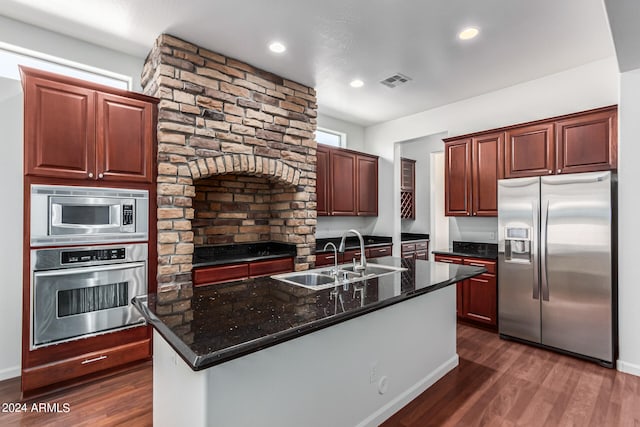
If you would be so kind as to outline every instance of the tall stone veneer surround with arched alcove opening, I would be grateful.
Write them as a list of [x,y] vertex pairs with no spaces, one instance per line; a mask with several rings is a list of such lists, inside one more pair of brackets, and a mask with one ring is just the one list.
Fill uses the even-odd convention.
[[[142,86],[160,99],[158,287],[191,283],[197,180],[219,180],[221,174],[276,183],[277,194],[270,196],[270,238],[296,244],[296,270],[313,265],[315,90],[166,34],[145,61]],[[227,219],[256,225],[253,218]],[[236,228],[229,231],[233,236]]]

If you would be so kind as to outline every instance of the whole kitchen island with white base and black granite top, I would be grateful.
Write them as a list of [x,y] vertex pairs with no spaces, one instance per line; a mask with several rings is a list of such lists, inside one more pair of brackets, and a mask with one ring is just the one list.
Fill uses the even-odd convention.
[[455,287],[478,267],[310,290],[257,278],[134,299],[154,327],[154,425],[377,425],[458,363]]

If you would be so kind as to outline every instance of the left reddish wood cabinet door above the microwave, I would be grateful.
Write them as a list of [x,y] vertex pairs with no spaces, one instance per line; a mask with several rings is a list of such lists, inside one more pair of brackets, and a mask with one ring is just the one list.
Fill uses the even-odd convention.
[[95,92],[23,75],[27,175],[91,179]]

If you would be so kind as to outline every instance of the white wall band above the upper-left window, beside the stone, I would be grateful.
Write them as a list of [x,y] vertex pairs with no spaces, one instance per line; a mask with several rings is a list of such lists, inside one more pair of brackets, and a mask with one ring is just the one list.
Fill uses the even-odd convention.
[[[132,90],[141,91],[144,58],[137,58],[40,27],[0,16],[0,42],[131,76]],[[151,46],[149,46],[151,50]]]

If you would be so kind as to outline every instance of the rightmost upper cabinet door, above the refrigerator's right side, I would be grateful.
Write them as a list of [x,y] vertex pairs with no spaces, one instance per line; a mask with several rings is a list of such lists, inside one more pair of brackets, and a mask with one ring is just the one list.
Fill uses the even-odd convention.
[[556,173],[616,169],[615,109],[556,122]]

